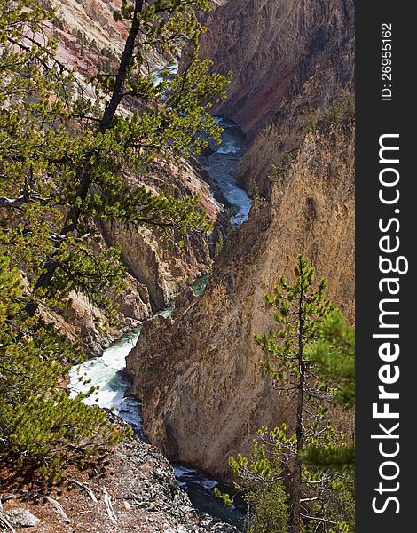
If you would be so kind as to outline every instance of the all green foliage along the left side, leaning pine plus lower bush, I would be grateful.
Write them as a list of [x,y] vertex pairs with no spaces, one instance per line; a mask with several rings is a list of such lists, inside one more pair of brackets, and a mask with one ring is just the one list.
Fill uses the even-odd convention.
[[[209,110],[227,78],[198,58],[206,0],[123,0],[122,57],[90,81],[56,59],[48,5],[0,0],[0,448],[56,471],[122,434],[58,386],[78,351],[36,311],[59,311],[75,290],[114,314],[125,268],[120,248],[100,240],[102,221],[156,228],[178,247],[185,233],[210,230],[197,197],[149,185],[162,161],[204,146],[197,131],[219,136]],[[155,83],[149,57],[185,48],[183,70]]]

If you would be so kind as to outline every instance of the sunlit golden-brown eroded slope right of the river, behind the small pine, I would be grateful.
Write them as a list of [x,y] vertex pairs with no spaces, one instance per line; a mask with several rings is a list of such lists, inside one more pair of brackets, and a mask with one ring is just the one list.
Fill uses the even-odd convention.
[[146,324],[127,358],[145,430],[170,458],[226,478],[228,457],[256,429],[279,425],[287,396],[272,389],[253,336],[273,326],[264,295],[297,255],[327,277],[327,296],[353,319],[353,126],[309,133],[287,175],[216,260],[201,298],[174,320]]

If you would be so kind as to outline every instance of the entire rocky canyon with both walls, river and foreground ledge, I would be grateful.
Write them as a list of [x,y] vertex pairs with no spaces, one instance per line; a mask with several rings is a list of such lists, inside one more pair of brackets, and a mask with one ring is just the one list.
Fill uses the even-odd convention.
[[[46,33],[59,43],[59,61],[83,80],[114,68],[127,35],[113,18],[121,0],[43,3],[57,9]],[[114,408],[108,417],[137,434],[108,451],[98,477],[74,473],[75,482],[53,489],[68,521],[45,501],[30,506],[45,532],[237,531],[197,511],[171,465],[180,464],[183,477],[194,469],[213,476],[205,480],[211,490],[232,481],[229,457],[248,453],[260,426],[291,425],[293,403],[272,386],[254,340],[276,327],[265,295],[282,274],[294,279],[303,253],[317,278],[327,278],[327,297],[355,321],[354,2],[211,4],[200,54],[213,71],[233,72],[227,99],[212,109],[223,144],[200,157],[157,161],[146,187],[198,195],[213,230],[185,235],[178,247],[157,231],[97,220],[98,249],[119,244],[127,271],[126,289],[114,297],[118,322],[106,322],[105,310],[80,293],[71,293],[63,313],[41,309],[81,341],[89,360],[80,368],[101,386],[98,407]],[[166,58],[155,52],[149,60],[156,72]],[[127,179],[143,185],[134,171]],[[122,358],[114,346],[121,338],[130,342]],[[352,429],[351,414],[338,422]],[[85,486],[98,502],[87,501]],[[106,505],[109,487],[117,523]],[[6,500],[5,513],[29,506],[22,494]]]

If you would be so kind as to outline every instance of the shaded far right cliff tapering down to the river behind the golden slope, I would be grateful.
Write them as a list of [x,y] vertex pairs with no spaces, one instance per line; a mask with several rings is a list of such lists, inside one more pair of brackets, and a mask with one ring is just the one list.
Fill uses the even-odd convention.
[[216,113],[250,141],[240,184],[269,195],[271,167],[298,149],[308,116],[353,89],[354,2],[229,0],[208,26],[201,55],[234,73]]

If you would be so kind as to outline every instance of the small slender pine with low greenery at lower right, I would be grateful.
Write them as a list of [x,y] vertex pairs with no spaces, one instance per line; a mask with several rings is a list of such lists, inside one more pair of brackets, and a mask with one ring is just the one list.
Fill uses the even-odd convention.
[[[248,489],[256,480],[252,491],[258,496],[284,483],[288,504],[279,497],[275,505],[282,513],[288,505],[293,533],[354,530],[353,475],[342,467],[350,462],[352,449],[329,414],[331,405],[351,392],[353,333],[325,298],[326,280],[313,288],[314,274],[300,255],[294,284],[282,276],[273,296],[266,297],[279,328],[255,337],[266,356],[261,364],[271,373],[279,394],[287,395],[294,405],[294,418],[289,427],[259,430],[255,459],[254,451],[250,460],[242,455],[231,458],[240,487]],[[260,501],[264,503],[264,498]],[[248,530],[263,531],[256,520],[261,519],[254,518]],[[270,533],[285,529],[269,527]]]

